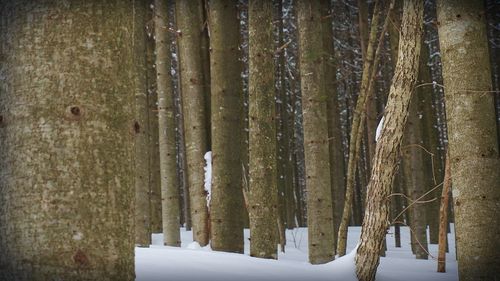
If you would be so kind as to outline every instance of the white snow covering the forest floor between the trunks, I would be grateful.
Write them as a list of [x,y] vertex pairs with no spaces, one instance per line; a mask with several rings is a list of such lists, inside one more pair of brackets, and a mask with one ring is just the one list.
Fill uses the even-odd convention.
[[[348,251],[357,244],[360,227],[349,228]],[[453,233],[452,229],[452,233]],[[165,247],[162,234],[153,235],[150,248],[136,248],[137,281],[357,281],[354,253],[324,265],[307,262],[307,229],[287,230],[286,253],[278,260],[252,258],[248,230],[245,230],[245,254],[212,251],[192,243],[191,232],[182,230],[182,247]],[[392,232],[387,235],[387,257],[381,258],[377,281],[452,281],[458,280],[455,239],[449,234],[450,253],[446,256],[447,273],[437,273],[437,261],[416,260],[410,250],[409,230],[401,228],[402,248],[394,247]],[[437,258],[437,245],[430,245]]]

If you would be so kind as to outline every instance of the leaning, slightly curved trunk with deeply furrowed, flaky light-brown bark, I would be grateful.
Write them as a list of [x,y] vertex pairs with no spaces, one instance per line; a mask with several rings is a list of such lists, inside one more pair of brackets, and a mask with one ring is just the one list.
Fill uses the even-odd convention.
[[389,226],[388,196],[397,171],[408,107],[418,75],[423,11],[423,1],[405,0],[398,62],[385,108],[384,126],[375,150],[363,228],[356,254],[356,274],[360,281],[375,280],[380,261],[379,252]]

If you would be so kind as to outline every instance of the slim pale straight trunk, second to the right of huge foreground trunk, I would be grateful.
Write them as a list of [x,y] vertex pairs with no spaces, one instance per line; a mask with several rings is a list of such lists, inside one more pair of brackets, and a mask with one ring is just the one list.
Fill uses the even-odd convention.
[[180,246],[179,179],[174,93],[170,77],[170,41],[167,36],[167,0],[155,0],[154,12],[163,242],[167,246]]

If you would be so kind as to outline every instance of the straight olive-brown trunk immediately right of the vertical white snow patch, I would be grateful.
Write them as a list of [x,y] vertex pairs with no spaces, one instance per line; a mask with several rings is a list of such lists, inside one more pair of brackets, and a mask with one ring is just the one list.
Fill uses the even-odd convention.
[[236,2],[211,0],[212,249],[243,252],[243,85]]

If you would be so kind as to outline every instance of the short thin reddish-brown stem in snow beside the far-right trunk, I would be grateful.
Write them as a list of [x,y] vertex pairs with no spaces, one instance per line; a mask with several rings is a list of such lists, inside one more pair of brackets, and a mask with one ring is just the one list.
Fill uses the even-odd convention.
[[448,234],[448,201],[451,186],[450,158],[446,156],[443,193],[441,194],[441,207],[439,209],[439,250],[438,250],[438,272],[446,272],[446,246]]

